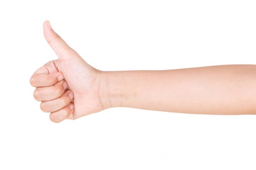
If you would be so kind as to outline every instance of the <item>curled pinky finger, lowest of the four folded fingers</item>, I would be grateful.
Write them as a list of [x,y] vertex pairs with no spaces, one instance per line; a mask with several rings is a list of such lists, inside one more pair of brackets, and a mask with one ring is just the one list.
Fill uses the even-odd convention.
[[59,111],[50,113],[50,120],[54,123],[60,123],[65,119],[73,119],[74,104],[69,103]]

